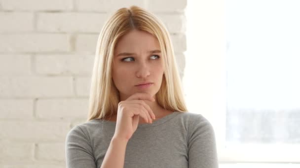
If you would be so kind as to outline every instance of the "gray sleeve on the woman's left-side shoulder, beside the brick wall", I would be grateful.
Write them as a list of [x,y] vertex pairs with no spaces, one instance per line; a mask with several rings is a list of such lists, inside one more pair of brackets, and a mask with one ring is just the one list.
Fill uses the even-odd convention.
[[79,126],[75,126],[66,136],[67,168],[96,168],[90,140]]

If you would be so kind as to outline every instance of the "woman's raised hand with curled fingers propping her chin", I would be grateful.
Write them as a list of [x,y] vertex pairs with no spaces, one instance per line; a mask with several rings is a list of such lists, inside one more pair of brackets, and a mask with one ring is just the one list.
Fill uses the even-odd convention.
[[155,115],[145,101],[155,101],[148,93],[136,93],[118,104],[116,126],[113,138],[129,140],[138,128],[140,116],[152,123]]

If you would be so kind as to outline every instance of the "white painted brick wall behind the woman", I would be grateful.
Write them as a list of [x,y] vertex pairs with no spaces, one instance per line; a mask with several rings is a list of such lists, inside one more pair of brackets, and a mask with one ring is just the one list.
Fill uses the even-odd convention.
[[165,23],[182,77],[187,0],[0,0],[0,168],[65,168],[66,134],[86,120],[99,32],[133,4]]

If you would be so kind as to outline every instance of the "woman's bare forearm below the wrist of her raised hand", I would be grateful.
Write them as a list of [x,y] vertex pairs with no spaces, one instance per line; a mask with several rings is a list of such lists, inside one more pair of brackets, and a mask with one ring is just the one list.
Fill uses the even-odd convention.
[[123,168],[127,140],[112,138],[101,168]]

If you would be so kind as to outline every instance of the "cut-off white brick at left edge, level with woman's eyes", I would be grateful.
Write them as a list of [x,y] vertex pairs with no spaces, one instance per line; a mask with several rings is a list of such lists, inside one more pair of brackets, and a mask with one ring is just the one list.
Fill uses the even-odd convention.
[[0,75],[30,75],[31,56],[0,55]]

